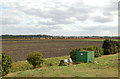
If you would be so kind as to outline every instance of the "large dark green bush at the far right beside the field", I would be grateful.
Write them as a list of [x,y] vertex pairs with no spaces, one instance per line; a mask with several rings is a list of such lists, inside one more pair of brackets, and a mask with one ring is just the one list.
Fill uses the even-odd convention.
[[104,49],[104,54],[115,54],[118,53],[120,50],[120,44],[112,40],[104,40],[102,48]]

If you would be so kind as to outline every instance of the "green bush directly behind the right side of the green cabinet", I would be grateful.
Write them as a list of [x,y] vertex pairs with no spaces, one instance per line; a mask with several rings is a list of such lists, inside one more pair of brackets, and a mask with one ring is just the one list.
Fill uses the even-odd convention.
[[100,57],[101,55],[104,54],[103,49],[97,46],[89,46],[86,50],[88,51],[94,51],[95,52],[95,57]]

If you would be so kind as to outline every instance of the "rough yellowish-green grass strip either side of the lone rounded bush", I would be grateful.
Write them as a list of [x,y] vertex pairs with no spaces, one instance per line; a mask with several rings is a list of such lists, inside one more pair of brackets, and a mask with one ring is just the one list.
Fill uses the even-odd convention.
[[[45,62],[41,65],[41,67],[57,66],[59,65],[60,60],[67,58],[69,58],[69,56],[46,58],[44,59]],[[10,69],[10,73],[17,71],[25,71],[28,69],[33,69],[33,66],[30,65],[27,61],[19,61],[12,63],[12,68]]]

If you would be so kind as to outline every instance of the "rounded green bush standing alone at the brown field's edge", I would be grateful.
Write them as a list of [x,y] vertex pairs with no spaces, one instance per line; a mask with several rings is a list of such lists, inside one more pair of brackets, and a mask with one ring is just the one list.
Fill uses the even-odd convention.
[[42,54],[40,52],[32,52],[27,55],[27,61],[33,65],[34,68],[43,63]]

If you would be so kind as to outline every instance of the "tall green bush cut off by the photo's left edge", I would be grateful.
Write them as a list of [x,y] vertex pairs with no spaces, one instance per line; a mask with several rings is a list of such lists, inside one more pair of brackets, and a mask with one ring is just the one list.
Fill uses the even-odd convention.
[[12,58],[5,53],[2,53],[2,76],[9,73],[9,69],[12,67]]

